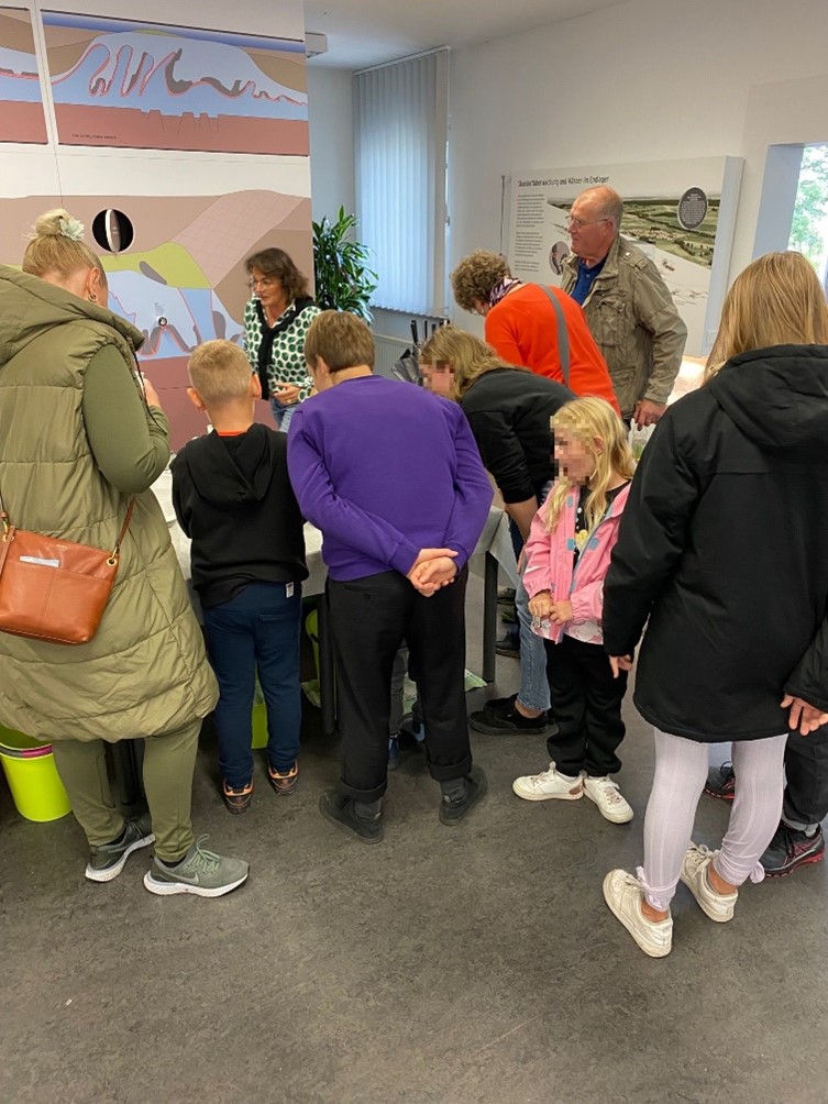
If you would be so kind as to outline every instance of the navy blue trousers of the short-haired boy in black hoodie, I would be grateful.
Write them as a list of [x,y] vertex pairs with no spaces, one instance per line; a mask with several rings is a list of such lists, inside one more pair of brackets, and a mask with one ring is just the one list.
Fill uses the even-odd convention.
[[267,758],[275,771],[289,771],[301,724],[301,584],[251,583],[230,602],[205,609],[204,629],[219,679],[215,728],[222,777],[233,789],[253,777],[256,668],[267,705]]

